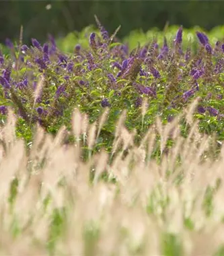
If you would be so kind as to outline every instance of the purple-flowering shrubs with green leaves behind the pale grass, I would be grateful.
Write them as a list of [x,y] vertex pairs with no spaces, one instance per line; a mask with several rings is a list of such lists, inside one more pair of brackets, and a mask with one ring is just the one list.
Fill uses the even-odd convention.
[[[7,106],[12,106],[20,117],[17,135],[30,141],[37,122],[54,134],[61,125],[71,129],[69,119],[75,107],[91,122],[108,107],[110,114],[99,143],[109,150],[123,109],[128,112],[127,128],[137,129],[141,137],[155,117],[167,123],[199,97],[194,117],[200,120],[200,131],[224,138],[221,41],[213,44],[204,32],[196,31],[196,45],[187,44],[180,27],[173,40],[163,34],[162,43],[160,35],[159,40],[154,37],[130,49],[116,37],[120,28],[110,36],[98,18],[96,23],[99,32],[85,34],[88,40],[74,45],[73,53],[61,51],[52,36],[43,45],[35,38],[31,46],[22,44],[22,36],[15,45],[6,40],[10,54],[1,53],[0,62],[2,122]],[[142,120],[145,99],[148,104]],[[188,131],[184,123],[183,134]]]

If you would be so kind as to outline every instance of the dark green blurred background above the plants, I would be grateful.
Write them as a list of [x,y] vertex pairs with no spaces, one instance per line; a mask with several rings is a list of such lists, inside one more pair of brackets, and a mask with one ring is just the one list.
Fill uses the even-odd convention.
[[[46,9],[48,4],[52,6],[49,10]],[[1,42],[6,37],[18,38],[21,25],[24,26],[25,42],[32,37],[44,41],[48,32],[64,36],[95,24],[95,13],[109,32],[121,24],[119,36],[136,28],[145,31],[157,26],[162,29],[165,22],[182,24],[186,28],[198,25],[207,30],[224,23],[223,0],[2,0],[0,7]]]

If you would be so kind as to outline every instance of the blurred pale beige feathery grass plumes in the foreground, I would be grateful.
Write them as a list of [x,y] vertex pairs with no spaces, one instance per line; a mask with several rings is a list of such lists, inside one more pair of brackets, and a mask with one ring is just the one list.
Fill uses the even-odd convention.
[[[195,106],[186,109],[187,115]],[[94,152],[106,115],[99,127],[94,123],[87,128],[92,153],[83,160],[81,143],[81,150],[77,143],[65,147],[65,127],[52,137],[38,126],[32,147],[26,150],[24,140],[15,137],[16,120],[9,111],[0,132],[1,253],[138,255],[140,250],[143,255],[166,255],[172,249],[178,255],[213,255],[221,251],[223,145],[219,158],[213,160],[214,138],[198,137],[197,124],[191,123],[189,137],[182,137],[184,115],[167,125],[157,119],[137,145],[135,133],[124,129],[120,117],[116,137],[120,146],[110,158],[105,150]],[[82,124],[83,116],[76,109],[75,137],[84,131]],[[174,143],[166,148],[171,138]],[[161,156],[155,160],[158,147]]]

